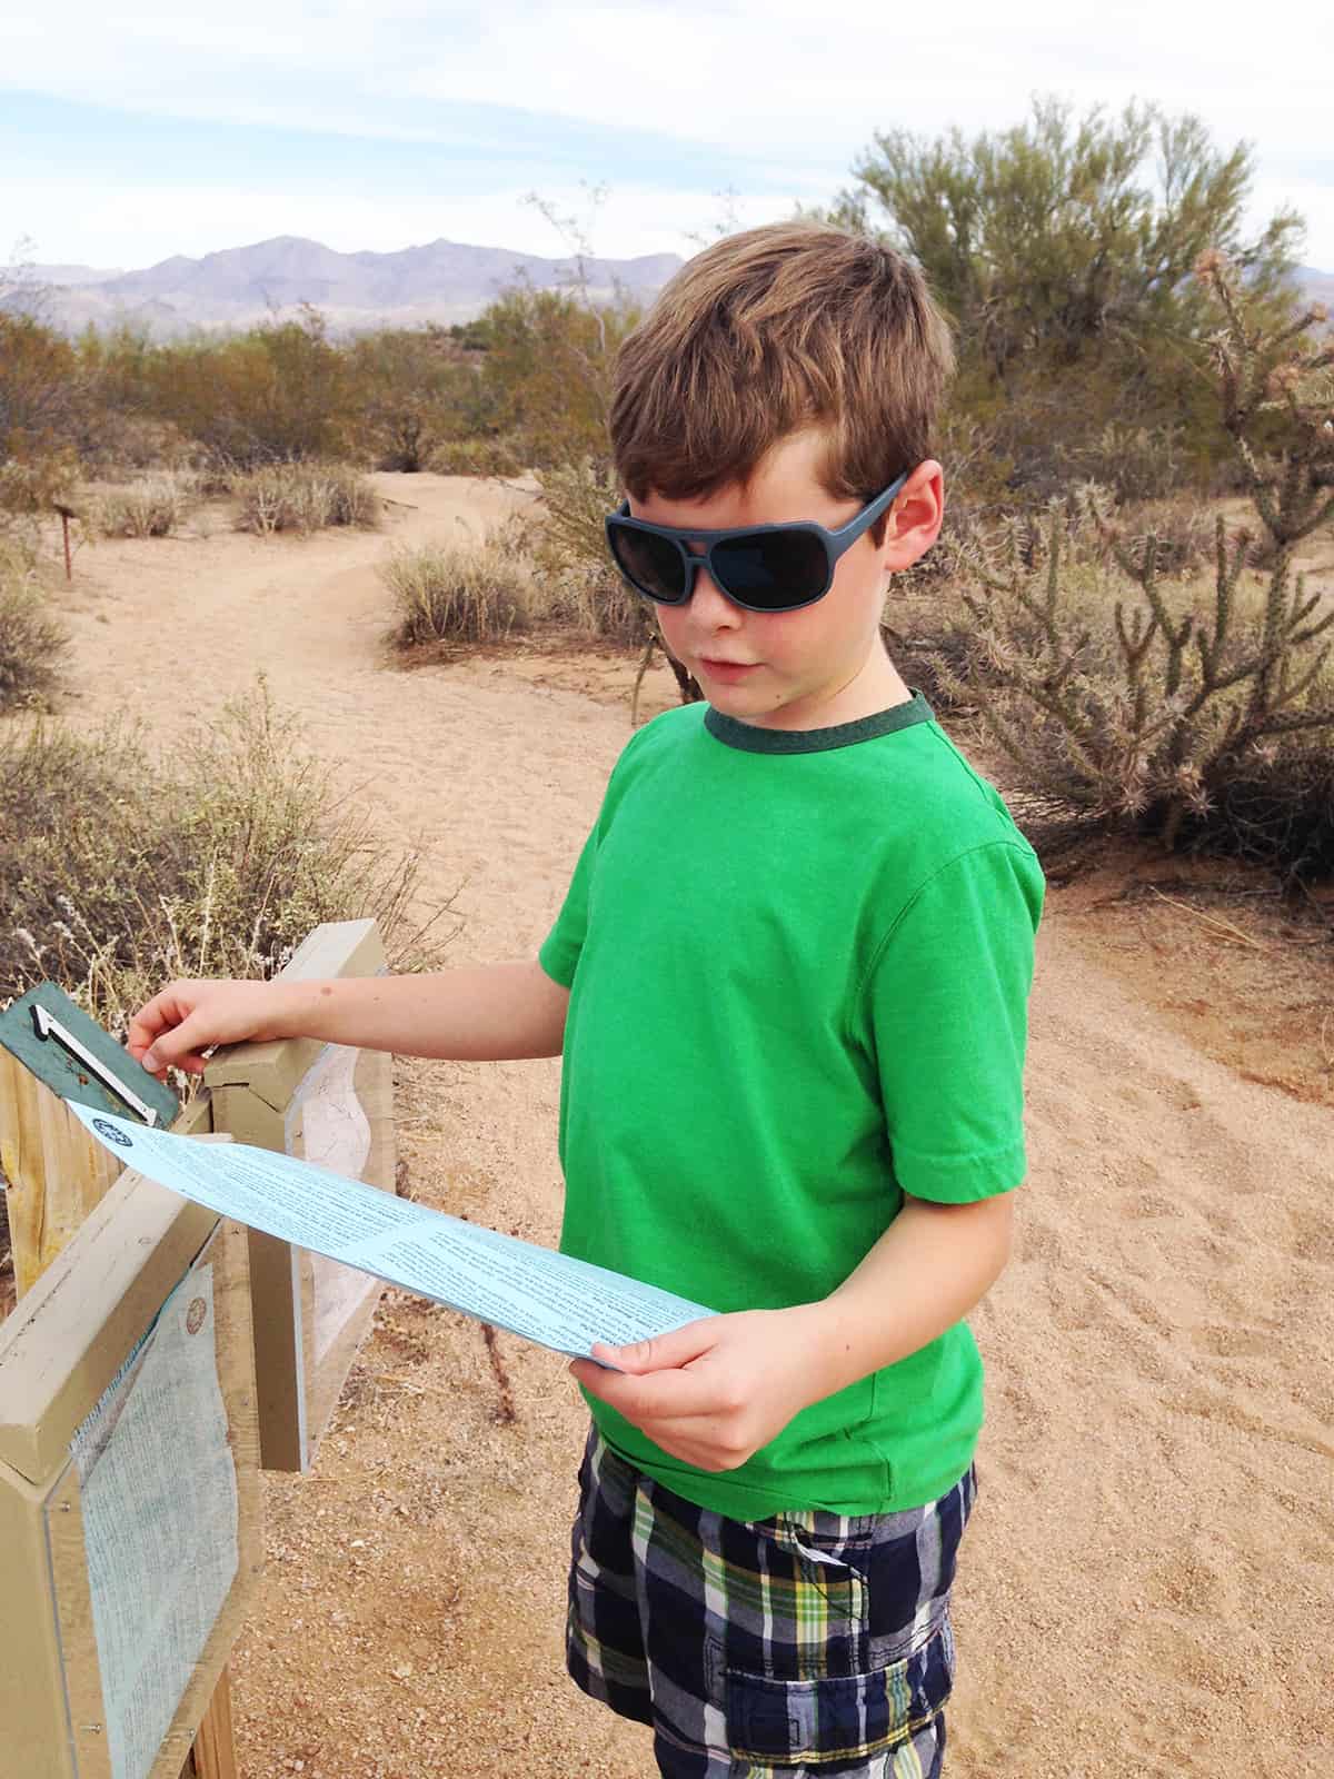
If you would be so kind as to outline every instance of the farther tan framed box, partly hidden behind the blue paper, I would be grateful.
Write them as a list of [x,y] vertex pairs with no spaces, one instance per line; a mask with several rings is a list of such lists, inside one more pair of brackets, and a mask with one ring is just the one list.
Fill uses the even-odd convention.
[[[384,973],[374,920],[325,922],[281,971],[285,980]],[[313,1039],[237,1044],[205,1073],[213,1130],[395,1190],[393,1059]],[[253,1229],[251,1300],[265,1469],[309,1469],[352,1361],[370,1332],[381,1283],[324,1254]]]

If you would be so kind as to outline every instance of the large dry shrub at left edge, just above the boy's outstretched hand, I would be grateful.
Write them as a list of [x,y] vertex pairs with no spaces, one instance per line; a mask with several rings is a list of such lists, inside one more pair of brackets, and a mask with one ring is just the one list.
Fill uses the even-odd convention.
[[434,968],[448,902],[414,922],[418,877],[263,681],[169,761],[142,726],[0,731],[0,1005],[52,978],[123,1041],[169,978],[272,977],[322,920],[375,916],[393,968]]

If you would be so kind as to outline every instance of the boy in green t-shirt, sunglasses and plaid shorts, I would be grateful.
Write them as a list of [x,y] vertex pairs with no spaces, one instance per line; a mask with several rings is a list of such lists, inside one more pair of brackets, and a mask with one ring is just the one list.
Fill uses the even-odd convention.
[[617,361],[607,535],[706,703],[628,742],[539,961],[173,984],[128,1039],[564,1055],[562,1249],[717,1311],[569,1368],[569,1670],[672,1779],[943,1770],[1042,904],[879,626],[950,359],[870,240],[692,260]]

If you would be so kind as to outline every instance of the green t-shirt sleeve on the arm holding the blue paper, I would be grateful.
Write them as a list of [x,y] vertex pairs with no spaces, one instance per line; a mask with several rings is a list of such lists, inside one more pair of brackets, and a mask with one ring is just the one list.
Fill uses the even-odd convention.
[[936,872],[868,973],[866,1016],[895,1176],[971,1203],[1025,1176],[1023,1067],[1042,872],[991,841]]

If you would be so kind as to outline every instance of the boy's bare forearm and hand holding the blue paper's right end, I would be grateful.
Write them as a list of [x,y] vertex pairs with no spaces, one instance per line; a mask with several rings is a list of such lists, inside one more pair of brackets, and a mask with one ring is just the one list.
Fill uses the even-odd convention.
[[895,1364],[985,1297],[1010,1254],[1014,1194],[971,1204],[904,1199],[898,1217],[829,1297],[708,1316],[594,1347],[569,1370],[592,1395],[697,1469],[735,1469],[813,1402]]

